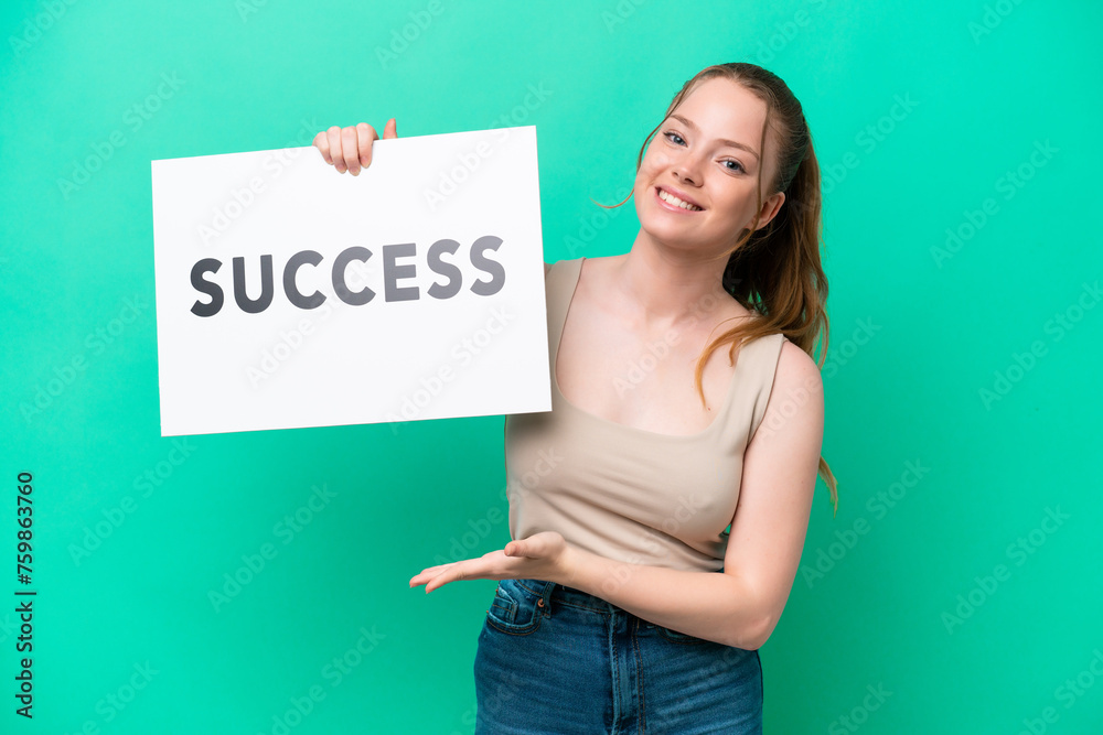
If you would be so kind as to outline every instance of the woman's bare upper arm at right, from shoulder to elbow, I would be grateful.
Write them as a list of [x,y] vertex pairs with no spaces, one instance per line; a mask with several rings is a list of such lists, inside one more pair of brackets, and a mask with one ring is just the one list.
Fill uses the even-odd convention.
[[765,413],[743,454],[724,558],[724,573],[739,577],[761,609],[762,644],[781,618],[801,562],[823,431],[820,368],[785,341]]

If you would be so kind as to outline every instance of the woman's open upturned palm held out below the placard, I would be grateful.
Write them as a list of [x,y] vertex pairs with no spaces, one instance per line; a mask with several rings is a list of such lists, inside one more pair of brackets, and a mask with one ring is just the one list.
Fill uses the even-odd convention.
[[574,550],[557,531],[540,531],[517,539],[505,549],[478,559],[464,559],[421,570],[410,586],[425,585],[426,594],[457,580],[547,580],[565,584],[574,579],[570,569]]

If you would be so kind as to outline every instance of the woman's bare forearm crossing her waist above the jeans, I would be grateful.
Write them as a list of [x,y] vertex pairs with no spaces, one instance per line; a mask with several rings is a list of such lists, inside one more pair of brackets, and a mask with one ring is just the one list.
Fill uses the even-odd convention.
[[636,617],[726,646],[754,649],[770,626],[747,583],[717,572],[630,564],[571,547],[568,572],[554,580]]

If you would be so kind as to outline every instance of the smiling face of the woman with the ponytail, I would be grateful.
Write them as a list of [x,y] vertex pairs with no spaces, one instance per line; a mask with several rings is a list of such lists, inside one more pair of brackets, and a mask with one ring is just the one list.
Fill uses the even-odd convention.
[[[775,169],[773,141],[760,151],[765,102],[722,77],[699,83],[652,139],[635,177],[641,227],[655,240],[702,255],[725,252],[758,208]],[[763,191],[763,194],[765,192]],[[758,227],[778,214],[785,195],[762,203]]]

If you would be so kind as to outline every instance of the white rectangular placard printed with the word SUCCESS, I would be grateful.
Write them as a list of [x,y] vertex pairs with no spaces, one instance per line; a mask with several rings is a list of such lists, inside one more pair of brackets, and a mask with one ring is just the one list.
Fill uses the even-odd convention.
[[535,127],[151,166],[162,436],[550,410]]

